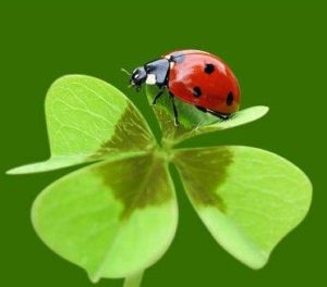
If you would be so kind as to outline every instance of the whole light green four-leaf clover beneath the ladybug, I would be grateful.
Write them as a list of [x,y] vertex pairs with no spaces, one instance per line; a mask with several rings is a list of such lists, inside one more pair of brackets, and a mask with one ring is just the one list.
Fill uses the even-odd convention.
[[[149,102],[153,95],[148,88]],[[46,99],[50,159],[8,172],[89,163],[49,185],[35,200],[32,220],[44,242],[93,282],[125,277],[125,286],[140,286],[143,271],[169,248],[178,226],[169,163],[213,237],[253,269],[266,264],[310,208],[308,178],[277,154],[240,146],[174,148],[190,137],[255,121],[266,107],[221,121],[181,101],[177,105],[179,127],[168,97],[154,105],[162,130],[157,144],[121,91],[94,77],[64,76]]]

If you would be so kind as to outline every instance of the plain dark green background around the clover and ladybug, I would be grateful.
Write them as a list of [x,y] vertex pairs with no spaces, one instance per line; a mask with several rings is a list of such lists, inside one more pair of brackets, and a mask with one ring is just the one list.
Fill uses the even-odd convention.
[[[22,1],[23,2],[23,1]],[[170,250],[146,272],[147,286],[306,286],[326,282],[326,8],[323,1],[25,1],[0,4],[1,286],[92,286],[77,266],[36,236],[37,194],[70,170],[25,176],[4,171],[49,154],[44,99],[61,75],[88,74],[124,91],[159,136],[144,92],[128,89],[121,67],[174,49],[207,50],[238,75],[242,107],[266,104],[263,120],[201,136],[183,147],[259,147],[299,165],[312,179],[308,216],[252,271],[222,250],[185,198],[175,171],[180,226]],[[322,132],[323,130],[323,132]],[[324,265],[325,264],[325,265]],[[98,286],[121,286],[101,280]]]

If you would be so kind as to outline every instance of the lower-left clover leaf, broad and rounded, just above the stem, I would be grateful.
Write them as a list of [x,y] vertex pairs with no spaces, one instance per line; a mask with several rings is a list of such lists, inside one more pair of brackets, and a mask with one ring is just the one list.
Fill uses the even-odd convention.
[[178,208],[167,162],[147,153],[84,167],[46,188],[32,220],[46,245],[93,282],[137,274],[174,237]]

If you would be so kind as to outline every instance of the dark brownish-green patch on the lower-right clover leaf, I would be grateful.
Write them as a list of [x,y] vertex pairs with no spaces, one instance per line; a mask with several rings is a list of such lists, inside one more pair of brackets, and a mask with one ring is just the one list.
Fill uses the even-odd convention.
[[204,207],[215,205],[223,213],[227,207],[217,190],[228,177],[232,160],[233,154],[226,147],[180,150],[173,159],[192,201]]

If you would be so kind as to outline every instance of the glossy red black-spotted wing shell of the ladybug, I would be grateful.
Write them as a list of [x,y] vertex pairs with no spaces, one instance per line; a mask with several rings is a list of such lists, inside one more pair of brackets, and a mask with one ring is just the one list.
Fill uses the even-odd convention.
[[239,110],[238,79],[221,59],[196,50],[165,55],[168,59],[171,57],[175,61],[170,67],[168,88],[177,98],[221,114]]

